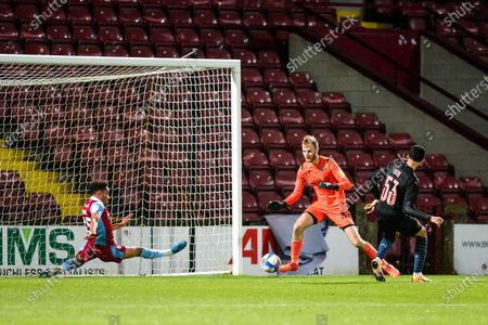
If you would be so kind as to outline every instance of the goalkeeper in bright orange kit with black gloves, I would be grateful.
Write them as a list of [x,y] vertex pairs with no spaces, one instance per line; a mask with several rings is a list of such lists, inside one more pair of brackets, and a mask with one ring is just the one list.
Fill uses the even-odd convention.
[[[270,202],[268,208],[271,211],[278,211],[295,204],[301,197],[307,182],[313,186],[318,199],[295,222],[291,245],[292,260],[290,263],[281,265],[280,272],[298,270],[305,230],[328,218],[344,231],[354,246],[362,249],[373,260],[376,257],[376,249],[361,238],[347,209],[344,191],[350,190],[352,184],[334,159],[319,155],[319,143],[314,136],[306,135],[301,142],[301,150],[305,162],[298,169],[295,190],[283,202]],[[390,276],[399,276],[398,270],[385,260],[383,260],[383,269]],[[384,278],[376,280],[384,281]]]

